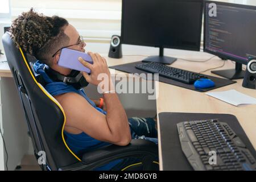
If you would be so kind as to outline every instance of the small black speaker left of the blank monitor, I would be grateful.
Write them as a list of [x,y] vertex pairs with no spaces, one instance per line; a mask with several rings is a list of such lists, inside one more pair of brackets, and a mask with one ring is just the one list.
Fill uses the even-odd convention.
[[122,44],[121,38],[118,35],[113,35],[111,38],[109,57],[121,58],[122,57]]

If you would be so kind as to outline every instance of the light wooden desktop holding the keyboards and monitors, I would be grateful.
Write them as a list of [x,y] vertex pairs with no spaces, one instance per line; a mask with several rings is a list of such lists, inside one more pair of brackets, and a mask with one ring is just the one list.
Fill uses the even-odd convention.
[[[203,52],[191,52],[191,55],[172,55],[174,57],[181,57],[183,59],[189,60],[206,60],[212,55]],[[134,61],[139,61],[143,59],[143,56],[124,56],[122,59],[110,59],[106,57],[109,66],[126,64]],[[218,67],[223,64],[223,61],[214,57],[212,60],[205,63],[193,63],[189,61],[184,61],[178,59],[172,67],[187,69],[188,71],[201,72],[208,68]],[[232,61],[226,61],[226,64],[222,68],[218,69],[234,69],[235,65]],[[243,66],[245,68],[245,66]],[[0,64],[0,76],[1,77],[11,77],[11,72],[7,63]],[[116,71],[116,73],[122,73]],[[127,73],[124,73],[127,74]],[[210,71],[205,72],[206,75],[213,75]],[[224,91],[230,89],[236,89],[239,92],[245,93],[249,96],[256,98],[256,90],[246,89],[242,86],[242,80],[237,80],[236,84],[224,86],[212,90],[210,92]],[[236,107],[227,104],[223,101],[217,100],[216,98],[207,96],[205,93],[195,92],[192,90],[180,88],[178,86],[164,84],[159,82],[159,97],[156,100],[157,113],[160,112],[186,112],[186,113],[226,113],[236,115],[237,119],[240,121],[243,130],[245,130],[248,138],[256,148],[256,105],[249,105],[243,107]],[[159,124],[159,123],[158,123]],[[160,140],[160,132],[158,131],[158,136]],[[159,142],[159,159],[160,159],[160,169],[162,169],[162,152]]]

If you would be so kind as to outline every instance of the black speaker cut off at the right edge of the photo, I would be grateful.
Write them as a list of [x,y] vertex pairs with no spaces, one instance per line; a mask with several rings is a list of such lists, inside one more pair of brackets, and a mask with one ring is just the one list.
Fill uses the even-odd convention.
[[249,89],[256,89],[256,57],[249,58],[242,86]]

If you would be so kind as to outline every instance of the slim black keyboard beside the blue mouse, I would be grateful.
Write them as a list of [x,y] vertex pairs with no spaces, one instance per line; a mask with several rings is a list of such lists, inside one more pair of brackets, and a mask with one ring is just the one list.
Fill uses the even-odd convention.
[[184,82],[186,84],[193,84],[199,78],[207,78],[204,75],[198,73],[193,73],[185,71],[183,69],[168,67],[167,65],[161,63],[142,63],[135,65],[135,68],[141,69],[150,73],[159,73],[159,76],[167,77],[172,80]]

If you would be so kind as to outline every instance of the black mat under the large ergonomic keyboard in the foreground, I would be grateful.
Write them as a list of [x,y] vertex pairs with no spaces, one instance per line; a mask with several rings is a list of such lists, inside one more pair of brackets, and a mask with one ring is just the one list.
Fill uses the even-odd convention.
[[243,131],[237,118],[232,114],[205,114],[205,113],[159,113],[159,129],[162,146],[162,159],[164,171],[189,171],[193,170],[181,149],[177,123],[203,119],[218,119],[226,122],[231,129],[241,138],[251,154],[256,158],[256,151]]

